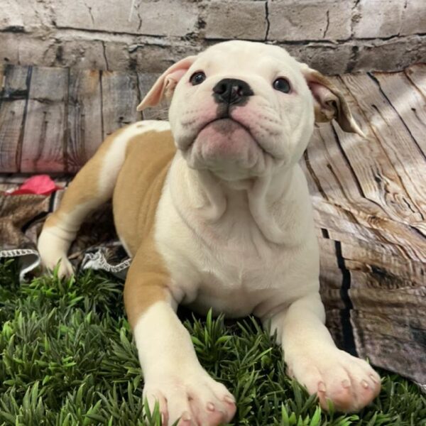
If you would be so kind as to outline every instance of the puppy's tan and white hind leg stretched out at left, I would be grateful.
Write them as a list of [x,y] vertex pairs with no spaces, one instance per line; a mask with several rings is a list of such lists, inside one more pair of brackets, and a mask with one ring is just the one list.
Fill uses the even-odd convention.
[[38,251],[45,268],[53,270],[60,261],[59,275],[72,275],[68,249],[84,218],[111,198],[127,142],[137,130],[133,129],[135,126],[112,133],[102,143],[72,180],[58,209],[46,220],[38,238]]

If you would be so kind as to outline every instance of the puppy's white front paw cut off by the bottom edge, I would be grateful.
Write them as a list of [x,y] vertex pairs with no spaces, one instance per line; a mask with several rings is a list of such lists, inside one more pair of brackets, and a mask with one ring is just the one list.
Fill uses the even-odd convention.
[[222,383],[204,370],[185,375],[158,373],[149,376],[143,388],[152,412],[158,401],[163,426],[180,418],[178,426],[217,426],[234,417],[234,397]]

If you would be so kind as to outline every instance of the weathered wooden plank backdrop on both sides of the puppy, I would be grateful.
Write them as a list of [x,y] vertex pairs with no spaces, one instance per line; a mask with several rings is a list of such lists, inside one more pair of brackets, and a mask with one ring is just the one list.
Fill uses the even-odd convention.
[[[164,106],[143,116],[136,111],[157,77],[0,68],[0,173],[74,173],[115,129],[142,117],[166,119]],[[333,80],[366,139],[336,124],[317,126],[301,161],[315,209],[327,323],[340,346],[415,377],[395,342],[406,339],[410,356],[424,360],[426,65]],[[383,365],[388,350],[394,361]]]

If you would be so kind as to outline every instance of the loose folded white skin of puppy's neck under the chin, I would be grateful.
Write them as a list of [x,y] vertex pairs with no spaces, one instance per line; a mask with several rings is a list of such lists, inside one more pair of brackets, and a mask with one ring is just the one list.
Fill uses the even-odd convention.
[[283,205],[291,198],[292,179],[293,168],[287,168],[256,178],[228,181],[209,170],[190,169],[178,156],[169,182],[175,207],[187,217],[187,224],[195,225],[202,219],[204,226],[214,226],[224,217],[241,214],[242,208],[266,240],[283,244],[288,236],[280,222]]

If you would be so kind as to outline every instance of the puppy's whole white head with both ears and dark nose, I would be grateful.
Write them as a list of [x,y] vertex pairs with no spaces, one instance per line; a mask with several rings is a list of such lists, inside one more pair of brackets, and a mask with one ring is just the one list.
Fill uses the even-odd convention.
[[283,48],[228,41],[175,63],[138,106],[171,98],[175,143],[191,168],[225,180],[296,163],[314,121],[362,135],[342,93]]

